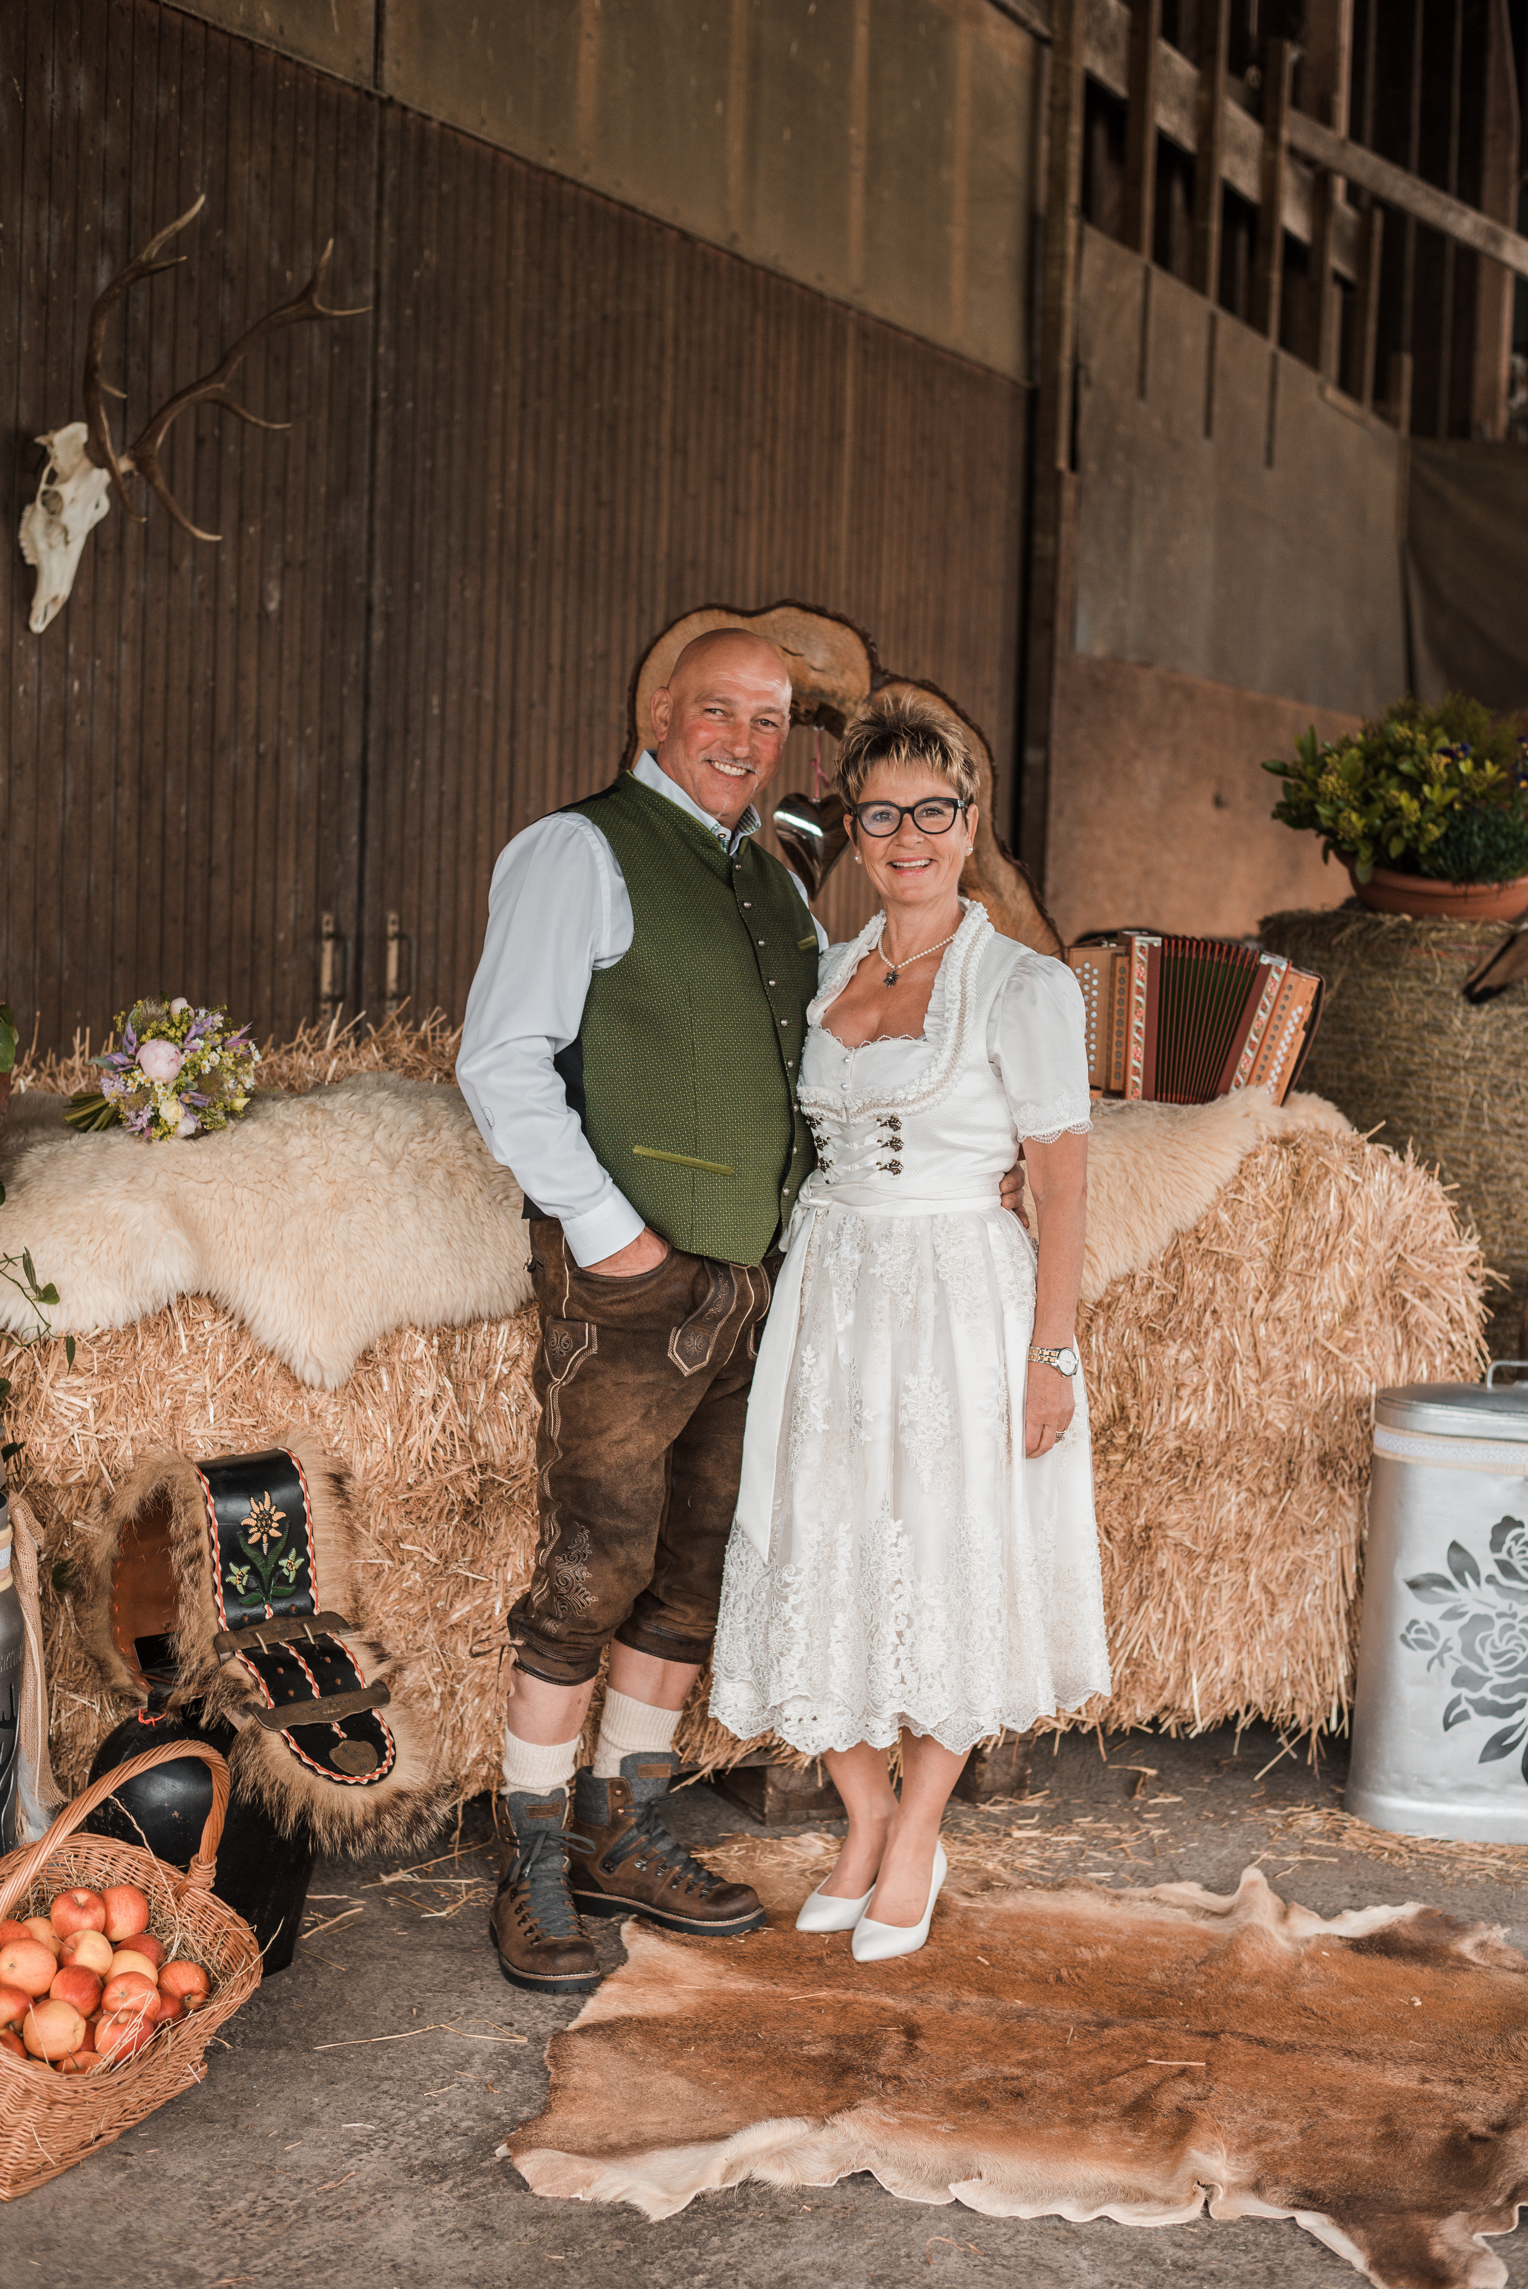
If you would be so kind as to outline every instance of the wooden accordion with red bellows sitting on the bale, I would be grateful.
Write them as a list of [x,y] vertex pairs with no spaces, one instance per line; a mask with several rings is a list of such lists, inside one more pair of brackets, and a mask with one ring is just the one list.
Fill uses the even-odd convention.
[[1088,1085],[1203,1106],[1269,1090],[1281,1106],[1322,1016],[1322,980],[1235,938],[1125,929],[1068,952],[1088,1023]]

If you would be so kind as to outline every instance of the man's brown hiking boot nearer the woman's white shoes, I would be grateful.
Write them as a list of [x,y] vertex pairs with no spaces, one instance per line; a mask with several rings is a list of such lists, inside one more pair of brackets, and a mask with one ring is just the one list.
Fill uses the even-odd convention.
[[726,1884],[662,1824],[660,1806],[678,1772],[671,1751],[637,1749],[619,1781],[584,1769],[573,1788],[568,1872],[584,1916],[646,1916],[667,1932],[735,1939],[767,1923],[758,1893]]

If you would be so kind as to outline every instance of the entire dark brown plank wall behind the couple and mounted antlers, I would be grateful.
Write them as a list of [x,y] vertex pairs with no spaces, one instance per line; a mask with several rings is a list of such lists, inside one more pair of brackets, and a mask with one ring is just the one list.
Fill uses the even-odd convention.
[[701,602],[843,611],[1013,755],[1022,389],[151,0],[0,16],[11,531],[92,295],[199,188],[115,330],[133,426],[330,231],[373,304],[250,359],[291,435],[174,433],[220,547],[115,508],[41,639],[0,552],[0,998],[44,1044],[160,982],[289,1032],[325,911],[351,1007],[396,913],[415,1005],[460,1016],[497,849],[609,776],[637,655]]

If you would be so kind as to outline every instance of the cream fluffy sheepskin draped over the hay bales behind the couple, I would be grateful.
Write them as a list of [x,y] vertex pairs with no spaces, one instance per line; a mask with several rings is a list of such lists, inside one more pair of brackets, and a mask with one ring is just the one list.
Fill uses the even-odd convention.
[[[1278,1108],[1260,1090],[1097,1106],[1084,1300],[1191,1231],[1255,1144],[1299,1126],[1347,1122],[1320,1096]],[[458,1090],[396,1074],[257,1096],[243,1122],[188,1144],[76,1135],[64,1099],[32,1090],[0,1128],[0,1248],[27,1248],[57,1286],[60,1334],[211,1296],[296,1376],[334,1389],[394,1328],[509,1318],[529,1302],[520,1186]],[[30,1325],[2,1284],[0,1325]]]

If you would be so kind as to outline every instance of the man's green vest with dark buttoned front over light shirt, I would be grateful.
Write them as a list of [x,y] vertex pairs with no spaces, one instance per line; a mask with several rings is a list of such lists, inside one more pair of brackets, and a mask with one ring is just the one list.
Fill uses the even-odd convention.
[[630,950],[589,982],[584,1133],[664,1241],[758,1264],[816,1158],[795,1101],[818,991],[806,904],[779,858],[751,842],[728,858],[630,771],[568,808],[616,854],[635,925]]

